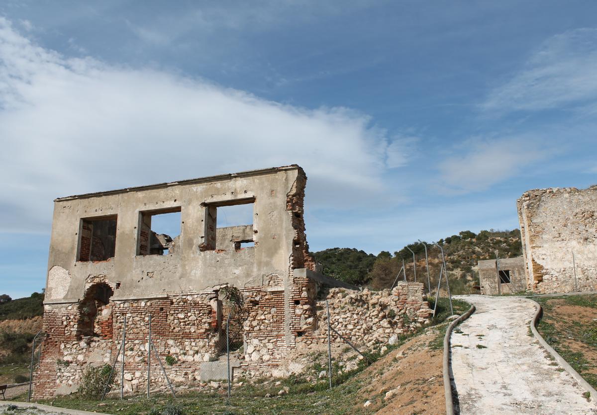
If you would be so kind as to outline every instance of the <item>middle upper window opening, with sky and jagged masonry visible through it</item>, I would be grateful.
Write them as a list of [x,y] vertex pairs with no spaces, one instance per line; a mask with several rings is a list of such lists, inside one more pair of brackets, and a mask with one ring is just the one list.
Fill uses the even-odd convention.
[[168,255],[180,248],[180,207],[140,212],[137,255]]

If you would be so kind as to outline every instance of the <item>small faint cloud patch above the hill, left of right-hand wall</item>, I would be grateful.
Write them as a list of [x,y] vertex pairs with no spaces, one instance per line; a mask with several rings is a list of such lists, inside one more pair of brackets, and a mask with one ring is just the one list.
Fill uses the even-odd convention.
[[[464,145],[469,147],[464,151]],[[546,143],[531,136],[501,140],[469,140],[458,156],[439,163],[442,193],[469,193],[487,190],[491,185],[512,178],[534,162],[548,156]]]

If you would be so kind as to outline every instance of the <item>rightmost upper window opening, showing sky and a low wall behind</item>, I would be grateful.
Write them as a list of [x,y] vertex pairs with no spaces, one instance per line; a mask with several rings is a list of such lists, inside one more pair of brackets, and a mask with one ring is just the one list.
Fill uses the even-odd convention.
[[230,200],[205,206],[205,241],[201,250],[242,250],[254,243],[255,199]]

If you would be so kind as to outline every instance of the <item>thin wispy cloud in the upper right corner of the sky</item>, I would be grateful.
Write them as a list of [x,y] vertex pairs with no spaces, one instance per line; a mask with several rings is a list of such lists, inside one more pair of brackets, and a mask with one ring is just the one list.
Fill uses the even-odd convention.
[[553,36],[531,55],[520,73],[494,89],[482,109],[545,110],[597,100],[597,29]]

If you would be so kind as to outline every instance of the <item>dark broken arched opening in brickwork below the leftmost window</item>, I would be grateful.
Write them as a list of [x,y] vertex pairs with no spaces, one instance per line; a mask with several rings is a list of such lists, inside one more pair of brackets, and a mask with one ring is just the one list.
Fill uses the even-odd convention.
[[85,290],[85,295],[78,307],[79,319],[76,333],[79,339],[85,336],[99,336],[96,330],[96,317],[101,315],[101,311],[108,305],[113,295],[114,290],[105,282],[91,284]]

